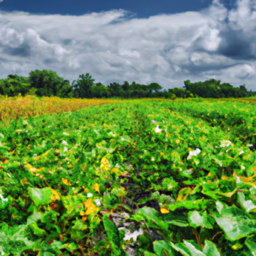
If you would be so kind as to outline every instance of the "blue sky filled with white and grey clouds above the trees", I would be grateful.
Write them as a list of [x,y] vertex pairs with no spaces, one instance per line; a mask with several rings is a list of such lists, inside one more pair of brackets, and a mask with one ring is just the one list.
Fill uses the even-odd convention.
[[35,69],[256,90],[256,0],[0,0],[0,79]]

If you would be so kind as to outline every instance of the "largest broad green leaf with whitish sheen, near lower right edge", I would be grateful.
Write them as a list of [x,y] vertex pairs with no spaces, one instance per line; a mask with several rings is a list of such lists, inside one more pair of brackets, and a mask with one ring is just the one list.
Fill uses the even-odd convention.
[[256,221],[234,205],[222,208],[221,213],[214,214],[213,217],[230,241],[256,232]]

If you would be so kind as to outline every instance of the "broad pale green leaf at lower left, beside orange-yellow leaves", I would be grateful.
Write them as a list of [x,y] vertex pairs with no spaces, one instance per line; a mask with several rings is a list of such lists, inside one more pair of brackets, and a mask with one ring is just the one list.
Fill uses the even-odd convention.
[[29,188],[28,194],[32,198],[32,201],[34,201],[35,205],[39,206],[39,205],[49,204],[50,196],[52,192],[50,188],[44,188],[44,189]]

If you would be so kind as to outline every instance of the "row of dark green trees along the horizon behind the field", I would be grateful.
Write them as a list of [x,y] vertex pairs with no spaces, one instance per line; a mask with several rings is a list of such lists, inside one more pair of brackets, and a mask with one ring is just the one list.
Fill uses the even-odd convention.
[[145,97],[244,97],[256,96],[256,91],[247,90],[245,84],[234,87],[229,83],[220,84],[220,80],[209,79],[205,82],[191,83],[184,81],[183,88],[172,88],[162,90],[158,83],[137,84],[127,81],[124,84],[116,82],[107,86],[102,83],[94,83],[90,73],[79,75],[78,80],[72,84],[53,71],[34,70],[29,77],[22,77],[17,74],[9,74],[7,79],[0,79],[0,95],[3,96],[58,96],[60,98],[145,98]]

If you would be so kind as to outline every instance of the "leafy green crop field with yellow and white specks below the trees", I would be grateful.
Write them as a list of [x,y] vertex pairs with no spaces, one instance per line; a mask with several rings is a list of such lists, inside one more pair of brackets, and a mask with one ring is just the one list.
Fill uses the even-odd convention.
[[1,255],[256,255],[255,102],[2,109]]

